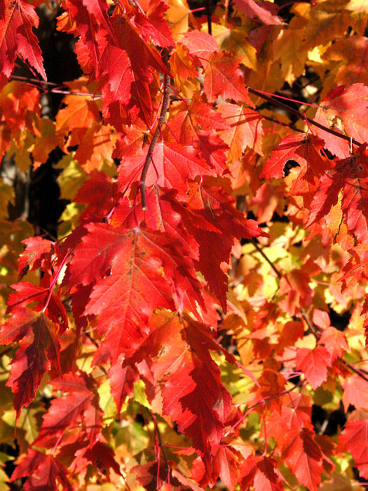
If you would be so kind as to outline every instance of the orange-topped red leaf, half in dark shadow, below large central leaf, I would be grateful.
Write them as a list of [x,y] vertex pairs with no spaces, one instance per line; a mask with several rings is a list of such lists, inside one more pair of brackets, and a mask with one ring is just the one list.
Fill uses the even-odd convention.
[[[146,339],[128,351],[123,368],[142,370],[142,361],[148,365],[151,382],[162,387],[163,414],[192,438],[210,471],[213,450],[220,444],[231,410],[231,396],[209,351],[222,348],[212,339],[210,328],[188,316],[180,320],[171,312],[156,311],[150,326]],[[149,376],[146,370],[143,375]]]

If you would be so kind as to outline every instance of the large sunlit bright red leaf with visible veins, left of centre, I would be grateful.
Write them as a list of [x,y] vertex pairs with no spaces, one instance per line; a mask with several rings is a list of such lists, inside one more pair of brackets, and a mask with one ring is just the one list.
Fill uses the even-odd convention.
[[[88,224],[64,279],[69,288],[96,283],[84,311],[98,315],[100,333],[115,362],[146,330],[156,307],[200,304],[200,283],[190,258],[177,252],[161,232]],[[86,251],[89,251],[86,255]],[[172,293],[175,292],[175,300]]]

